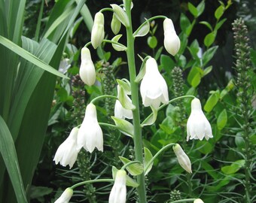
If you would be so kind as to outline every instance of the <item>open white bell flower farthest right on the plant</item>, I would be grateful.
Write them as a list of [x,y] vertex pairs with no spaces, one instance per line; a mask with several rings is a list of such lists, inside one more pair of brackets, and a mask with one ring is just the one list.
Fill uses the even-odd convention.
[[200,139],[200,141],[206,138],[208,141],[212,136],[212,128],[209,121],[203,114],[200,100],[194,98],[191,102],[191,114],[187,120],[187,141],[190,139]]

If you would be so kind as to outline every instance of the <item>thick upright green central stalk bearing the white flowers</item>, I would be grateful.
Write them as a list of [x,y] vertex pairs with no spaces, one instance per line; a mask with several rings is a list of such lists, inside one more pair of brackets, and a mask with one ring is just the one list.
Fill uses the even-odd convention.
[[[129,74],[130,74],[130,85],[131,85],[131,93],[132,93],[132,102],[135,105],[135,109],[133,110],[133,129],[134,129],[134,150],[136,160],[139,162],[143,162],[143,152],[142,152],[142,127],[140,125],[140,117],[139,117],[139,89],[138,83],[136,80],[136,65],[135,65],[135,54],[134,54],[134,37],[133,37],[133,26],[132,26],[132,17],[131,17],[131,0],[126,0],[125,8],[126,14],[129,19],[130,25],[126,27],[126,38],[127,38],[127,60],[129,66]],[[146,203],[146,189],[145,189],[145,177],[144,173],[137,176],[137,181],[139,186],[137,187],[137,192],[139,194],[139,203]]]

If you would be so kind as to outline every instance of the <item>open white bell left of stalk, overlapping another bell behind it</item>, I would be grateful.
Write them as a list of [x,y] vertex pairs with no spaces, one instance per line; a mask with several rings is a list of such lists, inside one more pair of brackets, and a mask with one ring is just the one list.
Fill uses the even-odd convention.
[[78,150],[84,147],[90,153],[96,147],[103,151],[103,134],[97,120],[96,107],[93,104],[87,105],[83,123],[78,131]]

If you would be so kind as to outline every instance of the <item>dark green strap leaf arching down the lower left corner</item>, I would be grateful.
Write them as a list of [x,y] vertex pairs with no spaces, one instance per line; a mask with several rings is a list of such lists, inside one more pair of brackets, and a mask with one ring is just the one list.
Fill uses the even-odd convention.
[[26,193],[23,187],[23,180],[20,174],[20,168],[17,159],[17,153],[14,146],[14,140],[11,132],[5,123],[5,120],[0,116],[0,152],[5,161],[5,167],[8,170],[11,183],[14,186],[14,192],[19,203],[28,202]]

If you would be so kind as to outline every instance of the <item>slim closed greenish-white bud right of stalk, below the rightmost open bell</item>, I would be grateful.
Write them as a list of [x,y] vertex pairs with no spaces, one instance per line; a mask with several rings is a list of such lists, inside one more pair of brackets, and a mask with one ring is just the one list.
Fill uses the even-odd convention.
[[181,146],[179,144],[175,144],[172,147],[175,155],[177,156],[178,163],[181,165],[181,167],[187,171],[188,173],[192,173],[191,170],[191,162],[190,159],[188,158],[187,154],[184,153],[184,150],[182,150]]

